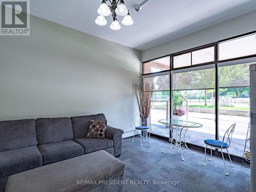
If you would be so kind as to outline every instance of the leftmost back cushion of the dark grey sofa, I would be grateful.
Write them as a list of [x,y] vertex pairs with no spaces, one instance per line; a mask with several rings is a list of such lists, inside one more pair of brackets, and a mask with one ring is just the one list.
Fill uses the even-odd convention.
[[34,119],[0,121],[0,152],[37,145]]

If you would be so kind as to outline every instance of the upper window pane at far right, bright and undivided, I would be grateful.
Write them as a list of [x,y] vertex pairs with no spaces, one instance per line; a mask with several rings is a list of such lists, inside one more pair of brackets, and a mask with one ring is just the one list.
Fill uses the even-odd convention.
[[256,54],[256,34],[219,43],[219,60]]

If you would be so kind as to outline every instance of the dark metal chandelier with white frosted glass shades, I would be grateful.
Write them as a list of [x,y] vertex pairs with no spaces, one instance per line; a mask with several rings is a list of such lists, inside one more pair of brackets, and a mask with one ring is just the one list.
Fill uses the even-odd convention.
[[[107,5],[106,2],[110,2],[111,5]],[[123,0],[103,0],[99,9],[99,16],[96,18],[95,23],[99,26],[105,26],[108,22],[105,19],[105,16],[109,16],[112,14],[113,22],[110,25],[110,29],[119,30],[121,26],[117,20],[117,15],[124,16],[122,20],[122,24],[125,26],[133,25],[133,19],[129,13],[129,10],[126,8]]]

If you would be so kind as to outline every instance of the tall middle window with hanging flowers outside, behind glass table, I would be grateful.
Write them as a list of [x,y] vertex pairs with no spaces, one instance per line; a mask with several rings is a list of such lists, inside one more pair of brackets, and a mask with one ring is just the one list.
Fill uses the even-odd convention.
[[215,139],[215,69],[173,74],[173,119],[201,123],[189,129],[186,141],[205,146],[205,139]]

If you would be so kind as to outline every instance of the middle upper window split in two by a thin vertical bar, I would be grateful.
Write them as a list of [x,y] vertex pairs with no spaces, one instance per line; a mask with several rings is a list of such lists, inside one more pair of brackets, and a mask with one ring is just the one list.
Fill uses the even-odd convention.
[[174,69],[215,61],[215,47],[208,47],[174,56]]

